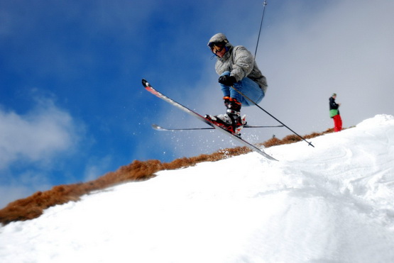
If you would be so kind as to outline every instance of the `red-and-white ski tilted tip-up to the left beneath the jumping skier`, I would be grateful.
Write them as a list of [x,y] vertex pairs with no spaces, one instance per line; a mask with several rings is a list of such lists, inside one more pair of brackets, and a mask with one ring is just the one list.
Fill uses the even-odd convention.
[[209,126],[211,126],[212,128],[215,128],[216,130],[221,131],[221,133],[226,134],[227,136],[231,137],[232,139],[236,140],[237,142],[240,142],[242,145],[245,145],[246,147],[248,147],[249,149],[258,152],[260,155],[263,155],[263,157],[266,157],[268,160],[273,160],[273,161],[278,161],[276,160],[274,157],[271,157],[270,155],[268,155],[266,152],[264,152],[263,150],[259,149],[258,147],[256,147],[255,145],[252,145],[250,142],[247,142],[246,140],[243,140],[242,138],[229,133],[229,131],[225,130],[224,128],[219,127],[218,125],[210,122],[209,120],[207,120],[207,118],[204,118],[203,116],[199,115],[199,113],[196,113],[195,111],[192,111],[190,108],[187,108],[186,106],[183,106],[180,103],[177,103],[177,101],[174,101],[173,99],[170,99],[168,96],[165,96],[164,94],[161,94],[159,91],[153,89],[153,86],[151,86],[151,84],[149,84],[145,79],[142,79],[142,84],[145,87],[145,89],[149,92],[151,92],[151,94],[158,96],[160,99],[163,99],[164,101],[167,101],[168,103],[170,103],[171,105],[180,108],[182,111],[185,111],[186,113],[189,113],[191,116],[194,116],[195,118],[199,119],[200,121],[207,123]]

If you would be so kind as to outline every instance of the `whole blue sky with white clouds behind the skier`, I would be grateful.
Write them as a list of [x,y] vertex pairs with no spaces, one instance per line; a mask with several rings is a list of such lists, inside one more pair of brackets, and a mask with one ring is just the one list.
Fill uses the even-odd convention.
[[[260,106],[302,135],[333,126],[333,92],[345,127],[394,114],[393,8],[390,0],[268,1]],[[148,94],[141,79],[199,113],[223,113],[207,41],[225,33],[254,53],[262,11],[258,0],[1,1],[0,206],[133,160],[235,146],[214,132],[151,129],[204,124]],[[278,124],[256,107],[242,113],[250,124]]]

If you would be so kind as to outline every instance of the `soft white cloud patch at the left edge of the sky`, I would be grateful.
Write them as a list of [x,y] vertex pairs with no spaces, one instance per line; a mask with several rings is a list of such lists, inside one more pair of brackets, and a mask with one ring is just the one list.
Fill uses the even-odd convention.
[[48,163],[79,140],[69,113],[50,99],[40,99],[26,114],[0,108],[0,169],[18,162]]

